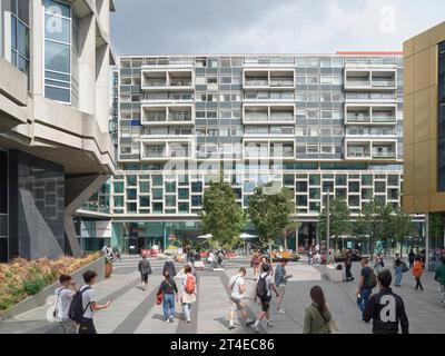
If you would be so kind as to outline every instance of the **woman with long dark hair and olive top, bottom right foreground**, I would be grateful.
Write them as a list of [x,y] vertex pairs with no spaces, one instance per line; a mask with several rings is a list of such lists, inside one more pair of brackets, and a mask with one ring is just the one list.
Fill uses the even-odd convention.
[[330,334],[332,314],[322,287],[310,288],[312,304],[305,310],[303,334]]

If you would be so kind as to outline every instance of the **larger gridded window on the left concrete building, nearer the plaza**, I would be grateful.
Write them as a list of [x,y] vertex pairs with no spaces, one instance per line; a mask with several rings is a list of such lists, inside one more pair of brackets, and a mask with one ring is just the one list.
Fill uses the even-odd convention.
[[44,1],[44,97],[78,106],[79,18],[72,8]]

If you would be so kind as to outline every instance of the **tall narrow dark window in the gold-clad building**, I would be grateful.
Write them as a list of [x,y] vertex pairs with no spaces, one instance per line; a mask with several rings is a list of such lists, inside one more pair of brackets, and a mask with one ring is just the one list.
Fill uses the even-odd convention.
[[445,191],[445,42],[438,46],[438,190]]

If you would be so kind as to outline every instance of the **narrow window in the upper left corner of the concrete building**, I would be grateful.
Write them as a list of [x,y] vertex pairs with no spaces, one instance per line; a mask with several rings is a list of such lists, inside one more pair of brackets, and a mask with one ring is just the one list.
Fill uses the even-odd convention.
[[29,1],[11,0],[11,63],[28,76],[30,68]]

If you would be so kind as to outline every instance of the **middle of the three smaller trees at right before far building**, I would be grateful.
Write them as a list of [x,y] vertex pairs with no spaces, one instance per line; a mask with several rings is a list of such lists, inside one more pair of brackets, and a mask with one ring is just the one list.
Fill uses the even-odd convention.
[[[389,207],[389,206],[388,206]],[[369,235],[369,251],[370,256],[374,254],[374,240],[377,236],[384,234],[385,221],[389,208],[379,201],[370,200],[365,202],[356,222],[356,233],[358,235]]]

